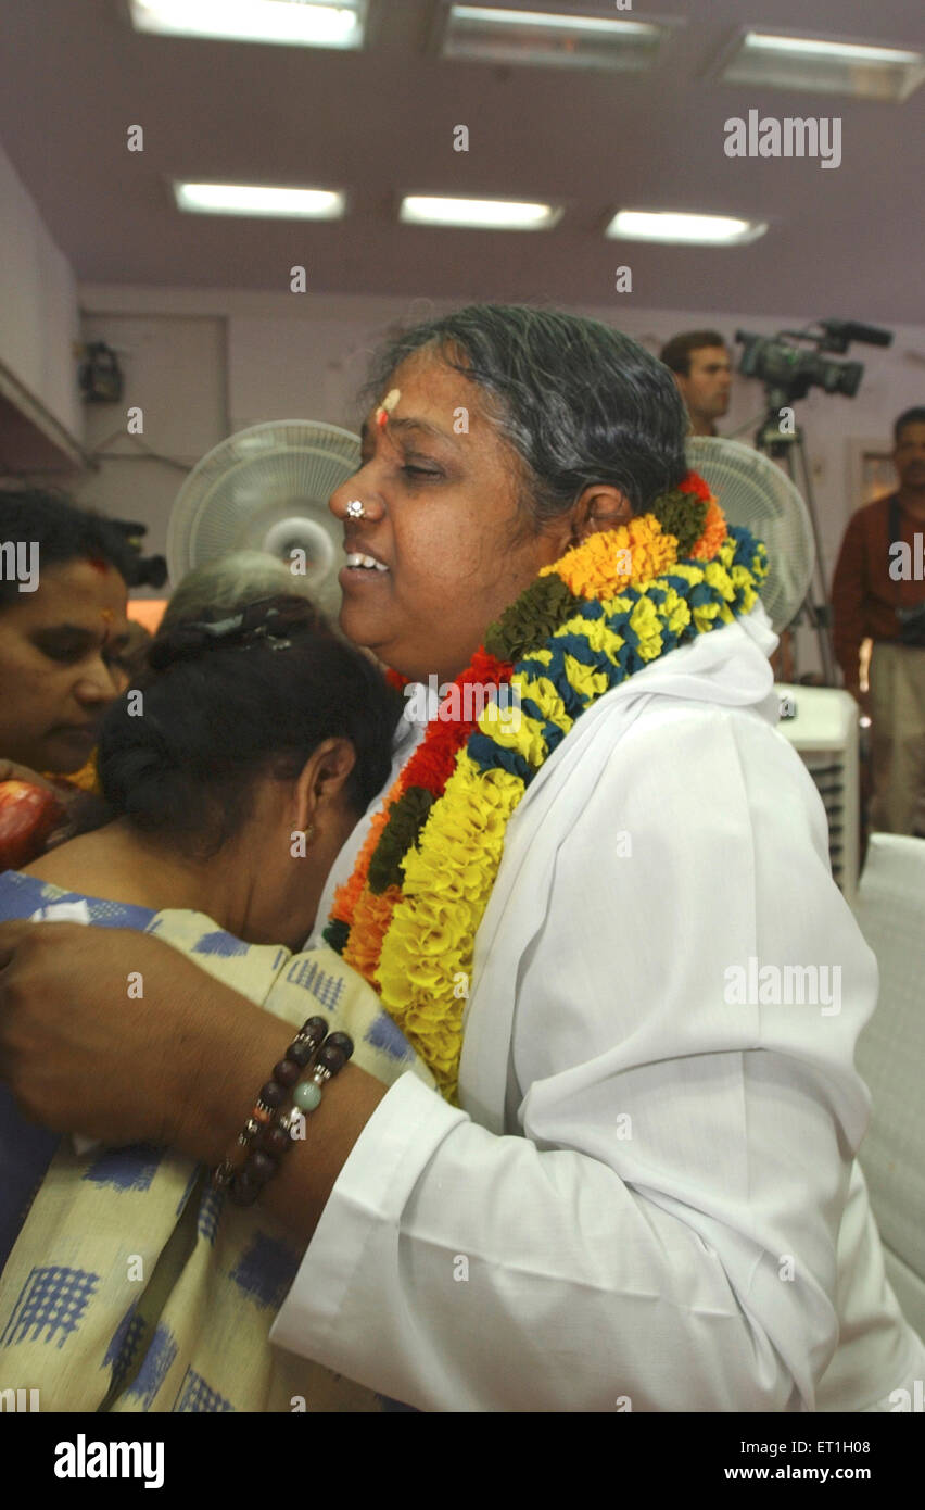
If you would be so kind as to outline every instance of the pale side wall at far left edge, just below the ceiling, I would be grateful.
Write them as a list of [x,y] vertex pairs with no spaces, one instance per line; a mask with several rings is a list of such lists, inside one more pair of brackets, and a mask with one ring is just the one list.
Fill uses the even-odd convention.
[[0,146],[0,362],[75,439],[77,284]]

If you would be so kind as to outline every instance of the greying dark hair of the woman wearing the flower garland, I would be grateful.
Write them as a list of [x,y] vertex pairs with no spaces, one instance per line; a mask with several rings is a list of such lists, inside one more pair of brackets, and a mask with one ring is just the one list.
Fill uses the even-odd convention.
[[539,530],[592,483],[637,513],[688,471],[688,417],[671,373],[599,320],[528,305],[469,305],[386,341],[365,397],[395,368],[433,352],[489,396],[489,414],[521,461],[522,507]]

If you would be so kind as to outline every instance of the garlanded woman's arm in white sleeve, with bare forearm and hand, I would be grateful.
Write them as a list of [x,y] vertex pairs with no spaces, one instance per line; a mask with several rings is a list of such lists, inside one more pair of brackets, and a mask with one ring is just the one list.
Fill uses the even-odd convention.
[[[344,1071],[266,1197],[315,1234],[273,1341],[432,1410],[812,1409],[875,966],[795,760],[714,710],[676,720],[670,746],[661,725],[617,746],[558,850],[537,947],[506,962],[525,1136],[410,1075],[383,1092]],[[53,926],[26,929],[0,1054],[33,1114],[217,1161],[290,1028],[154,939],[72,929],[53,968]],[[839,1010],[724,1000],[748,954],[839,963]],[[130,969],[143,1003],[116,1000]],[[97,982],[77,989],[81,1028],[44,1004],[68,977]]]

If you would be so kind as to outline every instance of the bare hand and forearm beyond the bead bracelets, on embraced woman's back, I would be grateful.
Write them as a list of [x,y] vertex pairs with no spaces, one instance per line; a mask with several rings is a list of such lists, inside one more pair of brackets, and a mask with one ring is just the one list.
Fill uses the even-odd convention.
[[0,1080],[53,1131],[217,1161],[287,1031],[151,935],[0,924]]

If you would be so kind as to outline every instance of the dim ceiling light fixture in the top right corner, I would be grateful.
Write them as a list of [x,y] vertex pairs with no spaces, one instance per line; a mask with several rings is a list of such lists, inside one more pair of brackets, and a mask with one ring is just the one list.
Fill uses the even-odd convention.
[[721,77],[733,85],[812,89],[898,103],[925,79],[925,53],[911,47],[747,30]]

